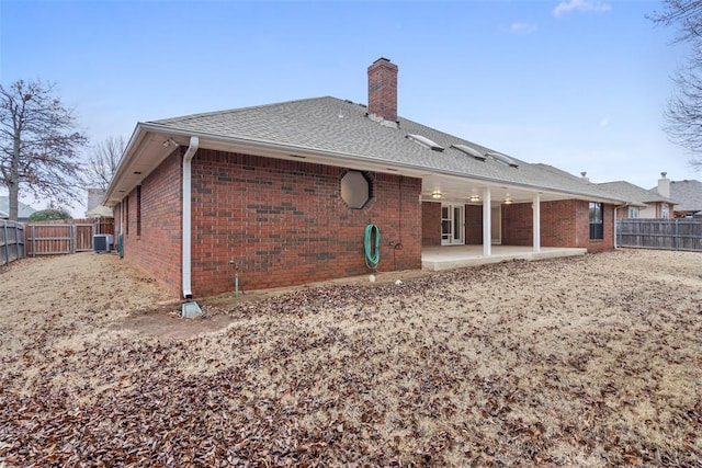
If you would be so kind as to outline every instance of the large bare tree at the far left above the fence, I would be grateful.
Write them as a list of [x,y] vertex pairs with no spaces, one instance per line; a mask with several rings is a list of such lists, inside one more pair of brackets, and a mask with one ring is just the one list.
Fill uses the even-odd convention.
[[88,140],[54,88],[38,80],[0,84],[0,184],[10,192],[10,219],[22,191],[61,205],[79,201],[78,149]]

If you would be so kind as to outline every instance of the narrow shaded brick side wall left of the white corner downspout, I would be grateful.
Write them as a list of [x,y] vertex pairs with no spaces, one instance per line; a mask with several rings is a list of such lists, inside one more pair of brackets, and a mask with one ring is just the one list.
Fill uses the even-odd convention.
[[[182,149],[168,157],[141,183],[141,236],[137,236],[137,196],[134,190],[125,209],[122,232],[124,261],[148,273],[161,285],[180,295],[181,283],[181,167]],[[120,222],[120,209],[115,222]],[[128,224],[129,233],[126,233]]]

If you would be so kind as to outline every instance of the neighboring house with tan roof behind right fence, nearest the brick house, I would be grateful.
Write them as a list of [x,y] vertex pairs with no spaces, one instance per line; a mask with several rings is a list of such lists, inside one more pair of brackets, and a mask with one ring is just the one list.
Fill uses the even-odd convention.
[[675,202],[656,191],[649,191],[625,181],[604,182],[598,186],[626,202],[616,209],[616,217],[620,219],[672,218]]

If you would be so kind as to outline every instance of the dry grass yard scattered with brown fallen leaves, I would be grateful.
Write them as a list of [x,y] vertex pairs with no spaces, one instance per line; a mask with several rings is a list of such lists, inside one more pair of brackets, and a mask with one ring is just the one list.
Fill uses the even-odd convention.
[[702,254],[380,279],[188,320],[114,255],[0,270],[0,467],[702,466]]

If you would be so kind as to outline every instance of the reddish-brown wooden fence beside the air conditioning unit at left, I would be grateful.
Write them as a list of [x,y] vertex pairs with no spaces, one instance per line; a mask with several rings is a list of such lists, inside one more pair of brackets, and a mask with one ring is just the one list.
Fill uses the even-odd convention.
[[114,220],[102,217],[31,222],[25,225],[26,255],[91,251],[97,233],[114,233]]

